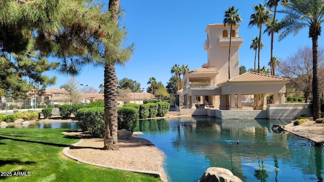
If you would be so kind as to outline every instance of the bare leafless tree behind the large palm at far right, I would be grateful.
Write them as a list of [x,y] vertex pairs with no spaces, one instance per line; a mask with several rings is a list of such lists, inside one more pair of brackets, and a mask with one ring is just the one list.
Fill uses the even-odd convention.
[[[313,79],[313,50],[309,46],[299,47],[297,52],[290,55],[285,61],[278,64],[278,71],[281,76],[291,79],[292,85],[301,90],[305,95],[305,102],[308,101],[309,93],[312,93]],[[318,50],[318,69],[324,69],[324,50]],[[319,85],[324,83],[323,71],[318,74]]]

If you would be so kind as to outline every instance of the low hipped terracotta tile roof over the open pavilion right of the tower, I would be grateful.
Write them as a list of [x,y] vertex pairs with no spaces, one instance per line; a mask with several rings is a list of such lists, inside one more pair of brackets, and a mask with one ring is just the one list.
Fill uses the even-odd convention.
[[255,72],[246,72],[232,79],[229,82],[250,82],[250,81],[288,81],[288,78],[282,78],[278,76],[266,75]]

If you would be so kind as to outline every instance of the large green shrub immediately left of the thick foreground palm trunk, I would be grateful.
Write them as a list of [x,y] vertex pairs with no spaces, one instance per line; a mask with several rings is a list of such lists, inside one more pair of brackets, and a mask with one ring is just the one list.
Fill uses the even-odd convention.
[[83,131],[89,131],[93,137],[105,135],[104,107],[82,108],[76,111],[75,117]]

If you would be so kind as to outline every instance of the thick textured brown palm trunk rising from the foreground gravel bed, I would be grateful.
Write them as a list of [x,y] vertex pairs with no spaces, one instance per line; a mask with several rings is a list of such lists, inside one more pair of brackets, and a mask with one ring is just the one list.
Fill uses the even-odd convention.
[[[108,10],[111,12],[111,21],[117,25],[119,0],[109,0]],[[105,57],[109,52],[105,50]],[[104,70],[104,103],[105,103],[105,136],[104,150],[118,150],[118,122],[117,122],[117,81],[115,62],[109,60]]]

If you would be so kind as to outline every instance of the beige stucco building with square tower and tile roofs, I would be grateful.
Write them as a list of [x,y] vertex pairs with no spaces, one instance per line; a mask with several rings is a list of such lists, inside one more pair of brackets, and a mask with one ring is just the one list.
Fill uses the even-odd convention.
[[178,90],[180,109],[266,110],[269,94],[273,94],[273,104],[285,104],[289,79],[255,72],[239,75],[239,48],[243,43],[239,26],[232,28],[229,66],[230,27],[207,26],[204,50],[208,60],[184,75],[184,87]]

